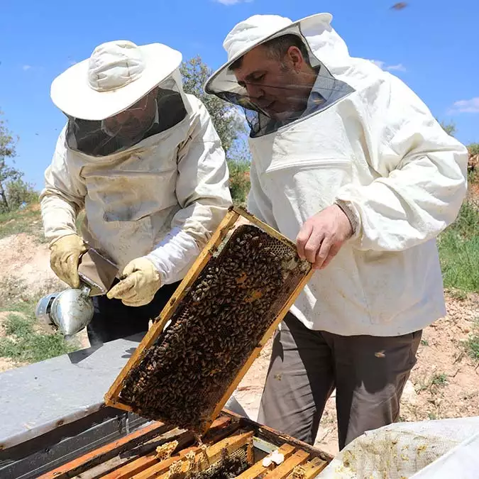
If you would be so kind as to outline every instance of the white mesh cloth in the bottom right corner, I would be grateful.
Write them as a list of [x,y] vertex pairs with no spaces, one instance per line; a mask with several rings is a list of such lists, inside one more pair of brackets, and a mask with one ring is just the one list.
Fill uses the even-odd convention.
[[452,477],[479,478],[479,417],[396,423],[368,431],[343,448],[316,476],[318,479]]

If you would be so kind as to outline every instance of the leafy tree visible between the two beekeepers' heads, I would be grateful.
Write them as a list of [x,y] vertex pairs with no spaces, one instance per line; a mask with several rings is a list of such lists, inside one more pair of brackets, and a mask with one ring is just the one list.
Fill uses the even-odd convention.
[[229,153],[233,143],[245,132],[243,123],[239,115],[236,114],[235,107],[214,95],[204,92],[204,84],[213,71],[202,62],[199,55],[187,62],[182,62],[180,72],[183,77],[184,91],[197,97],[206,106],[214,128],[219,138],[221,138],[226,156],[230,158]]

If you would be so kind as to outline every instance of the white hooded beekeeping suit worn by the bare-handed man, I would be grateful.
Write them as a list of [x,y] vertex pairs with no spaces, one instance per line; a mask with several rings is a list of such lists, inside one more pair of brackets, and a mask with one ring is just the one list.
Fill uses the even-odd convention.
[[[239,23],[224,41],[229,61],[205,89],[246,109],[253,214],[293,241],[307,219],[335,202],[356,224],[293,314],[309,329],[343,336],[417,331],[446,313],[435,238],[461,207],[467,151],[400,79],[350,57],[331,18]],[[229,67],[291,33],[307,45],[318,75],[304,114],[273,121]]]

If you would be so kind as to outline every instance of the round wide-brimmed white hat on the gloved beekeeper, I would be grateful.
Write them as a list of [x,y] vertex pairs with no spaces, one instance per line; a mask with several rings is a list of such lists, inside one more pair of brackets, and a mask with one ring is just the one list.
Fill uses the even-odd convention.
[[182,55],[161,43],[102,43],[87,60],[53,80],[50,96],[68,116],[104,120],[135,104],[180,66]]

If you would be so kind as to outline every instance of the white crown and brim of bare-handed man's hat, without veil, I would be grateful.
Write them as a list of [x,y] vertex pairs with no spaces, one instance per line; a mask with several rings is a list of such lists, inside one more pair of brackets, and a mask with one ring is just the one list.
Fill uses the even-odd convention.
[[228,61],[209,77],[204,85],[205,92],[214,94],[238,89],[229,67],[261,43],[288,33],[305,36],[307,31],[311,28],[317,30],[321,24],[325,29],[330,28],[332,19],[331,13],[316,13],[297,21],[278,15],[253,15],[241,21],[226,35],[223,47],[228,54]]

